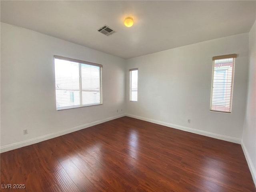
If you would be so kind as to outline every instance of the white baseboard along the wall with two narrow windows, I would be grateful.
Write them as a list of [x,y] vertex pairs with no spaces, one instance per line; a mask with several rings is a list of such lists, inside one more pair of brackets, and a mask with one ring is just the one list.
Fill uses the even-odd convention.
[[225,136],[225,135],[215,134],[215,133],[202,131],[202,130],[198,130],[198,129],[193,129],[193,128],[189,128],[189,127],[185,127],[185,126],[166,123],[166,122],[162,122],[162,121],[158,121],[158,120],[154,120],[154,119],[144,118],[144,117],[136,116],[136,115],[132,115],[132,114],[126,114],[126,116],[136,118],[136,119],[140,119],[140,120],[144,120],[144,121],[151,122],[151,123],[155,123],[155,124],[159,124],[159,125],[163,125],[163,126],[166,126],[166,127],[171,127],[171,128],[183,130],[183,131],[186,131],[186,132],[196,133],[196,134],[199,134],[199,135],[204,135],[204,136],[224,140],[224,141],[229,141],[229,142],[238,143],[238,144],[241,143],[241,140],[239,138],[234,138],[234,137],[229,137],[229,136]]

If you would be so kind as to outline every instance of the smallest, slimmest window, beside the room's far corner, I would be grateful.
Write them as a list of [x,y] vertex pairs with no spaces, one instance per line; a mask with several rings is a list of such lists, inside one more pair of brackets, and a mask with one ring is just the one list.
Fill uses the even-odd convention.
[[130,69],[130,101],[138,101],[138,68]]

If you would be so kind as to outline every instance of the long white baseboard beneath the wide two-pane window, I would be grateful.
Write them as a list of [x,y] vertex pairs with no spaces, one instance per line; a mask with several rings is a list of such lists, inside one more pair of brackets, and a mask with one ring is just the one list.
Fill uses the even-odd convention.
[[10,150],[14,150],[14,149],[18,149],[18,148],[21,148],[21,147],[24,147],[24,146],[35,144],[35,143],[39,143],[39,142],[42,142],[42,141],[45,141],[45,140],[48,140],[48,139],[52,139],[52,138],[55,138],[55,137],[58,137],[58,136],[62,136],[62,135],[65,135],[65,134],[68,134],[68,133],[71,133],[71,132],[75,132],[75,131],[78,131],[78,130],[81,130],[81,129],[84,129],[84,128],[88,128],[88,127],[98,125],[98,124],[101,124],[101,123],[104,123],[104,122],[107,122],[107,121],[110,121],[110,120],[114,120],[114,119],[117,119],[117,118],[120,118],[120,117],[124,117],[124,116],[125,116],[125,114],[120,114],[120,115],[117,115],[117,116],[113,116],[113,117],[105,118],[105,119],[102,119],[102,120],[90,122],[90,123],[87,123],[87,124],[84,124],[84,125],[76,126],[76,127],[70,128],[70,129],[66,129],[66,130],[63,130],[63,131],[56,132],[56,133],[40,136],[40,137],[37,137],[37,138],[22,141],[22,142],[17,142],[17,143],[1,146],[0,147],[0,153],[10,151]]

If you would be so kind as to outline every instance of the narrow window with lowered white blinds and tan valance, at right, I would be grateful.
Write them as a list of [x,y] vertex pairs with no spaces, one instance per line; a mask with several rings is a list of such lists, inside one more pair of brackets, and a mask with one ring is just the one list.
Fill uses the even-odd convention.
[[213,57],[210,110],[231,113],[236,54]]

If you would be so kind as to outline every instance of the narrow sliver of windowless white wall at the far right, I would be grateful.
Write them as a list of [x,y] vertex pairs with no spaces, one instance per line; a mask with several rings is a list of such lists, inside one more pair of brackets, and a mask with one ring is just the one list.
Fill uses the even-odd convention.
[[242,147],[256,185],[256,21],[249,33],[249,71]]

